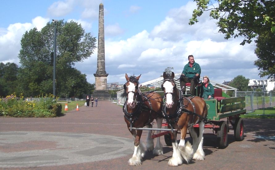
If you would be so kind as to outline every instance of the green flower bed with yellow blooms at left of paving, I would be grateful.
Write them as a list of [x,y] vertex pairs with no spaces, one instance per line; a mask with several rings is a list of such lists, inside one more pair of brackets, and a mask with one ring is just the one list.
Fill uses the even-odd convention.
[[24,101],[21,94],[0,99],[0,116],[11,117],[56,117],[61,115],[62,106],[53,95],[42,96],[39,101]]

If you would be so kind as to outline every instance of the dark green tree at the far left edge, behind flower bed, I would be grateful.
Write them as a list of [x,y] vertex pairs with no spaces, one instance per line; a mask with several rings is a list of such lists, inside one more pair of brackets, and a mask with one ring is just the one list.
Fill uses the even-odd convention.
[[0,96],[16,93],[18,66],[15,63],[0,63]]

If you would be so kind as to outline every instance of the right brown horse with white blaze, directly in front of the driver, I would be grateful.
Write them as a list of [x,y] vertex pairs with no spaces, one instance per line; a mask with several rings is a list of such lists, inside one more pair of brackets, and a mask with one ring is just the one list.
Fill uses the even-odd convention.
[[[171,140],[173,155],[169,159],[169,166],[178,166],[185,160],[187,164],[193,160],[204,160],[205,154],[202,149],[204,125],[207,121],[207,108],[205,101],[198,96],[184,97],[177,89],[174,82],[174,72],[171,75],[163,73],[162,89],[164,91],[163,115],[171,127]],[[193,125],[199,125],[195,129]],[[176,141],[177,130],[180,130],[180,142]],[[193,138],[193,146],[189,141],[185,142],[187,129]]]

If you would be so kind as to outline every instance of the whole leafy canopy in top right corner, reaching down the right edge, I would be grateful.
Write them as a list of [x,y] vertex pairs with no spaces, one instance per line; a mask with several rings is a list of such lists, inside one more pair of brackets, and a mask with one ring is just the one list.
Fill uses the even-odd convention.
[[260,70],[261,77],[275,80],[275,1],[274,0],[194,0],[197,9],[189,24],[198,22],[197,17],[210,11],[210,18],[217,19],[225,39],[243,36],[240,43],[256,42],[255,53],[259,58],[254,64]]

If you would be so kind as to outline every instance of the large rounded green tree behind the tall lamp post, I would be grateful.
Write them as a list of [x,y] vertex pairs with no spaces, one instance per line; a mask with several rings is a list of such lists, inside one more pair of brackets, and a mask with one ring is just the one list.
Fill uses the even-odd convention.
[[[90,33],[85,33],[81,24],[76,22],[60,20],[56,24],[56,94],[59,97],[78,96],[85,86],[91,85],[86,75],[73,66],[75,62],[81,62],[94,53],[96,39]],[[22,37],[19,53],[22,66],[18,78],[21,90],[27,96],[52,93],[53,41],[53,22],[47,23],[41,31],[33,28]],[[82,81],[83,86],[78,84],[79,81]]]

